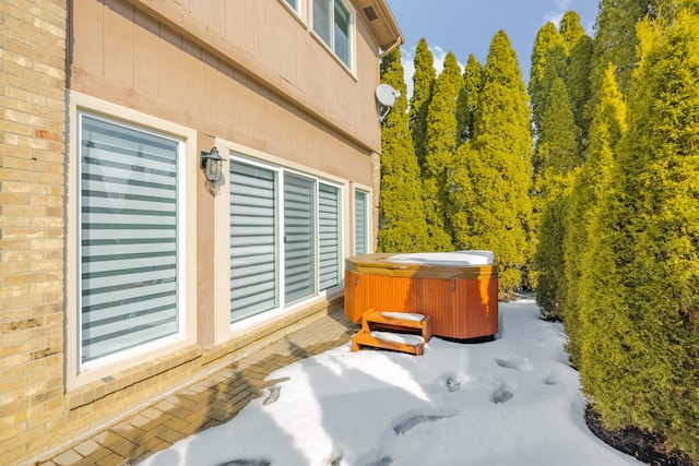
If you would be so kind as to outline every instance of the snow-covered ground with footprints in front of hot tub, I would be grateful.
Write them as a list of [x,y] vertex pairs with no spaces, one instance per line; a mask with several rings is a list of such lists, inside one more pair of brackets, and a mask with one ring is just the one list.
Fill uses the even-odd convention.
[[640,465],[587,428],[560,324],[500,302],[500,338],[424,356],[350,344],[283,369],[229,422],[142,465]]

